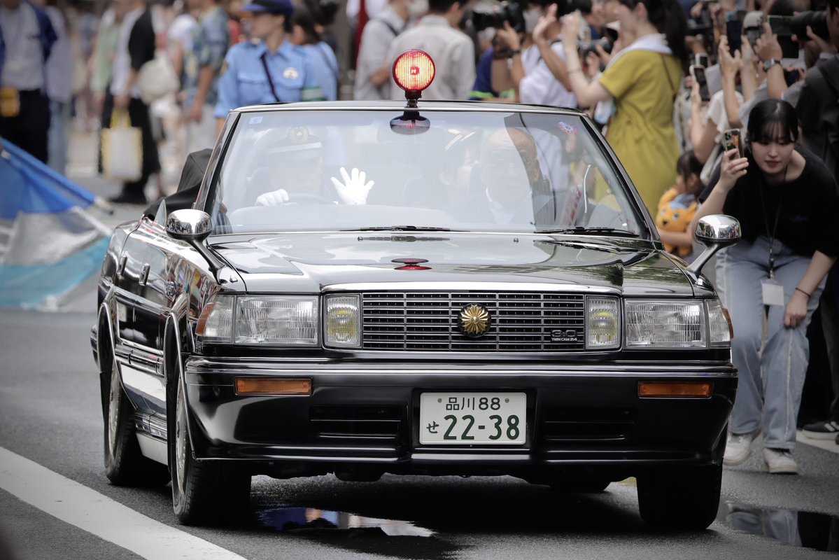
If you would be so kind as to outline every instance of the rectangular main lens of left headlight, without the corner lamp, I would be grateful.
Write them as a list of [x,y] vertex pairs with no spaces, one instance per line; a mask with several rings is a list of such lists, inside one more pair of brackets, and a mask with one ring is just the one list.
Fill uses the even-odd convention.
[[238,297],[236,343],[315,346],[316,297]]

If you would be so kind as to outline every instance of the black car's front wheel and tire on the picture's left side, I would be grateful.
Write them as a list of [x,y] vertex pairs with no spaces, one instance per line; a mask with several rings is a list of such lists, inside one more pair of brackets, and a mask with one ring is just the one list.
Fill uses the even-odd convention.
[[235,525],[248,516],[251,476],[223,461],[198,461],[187,429],[186,397],[180,368],[167,403],[172,509],[183,525]]

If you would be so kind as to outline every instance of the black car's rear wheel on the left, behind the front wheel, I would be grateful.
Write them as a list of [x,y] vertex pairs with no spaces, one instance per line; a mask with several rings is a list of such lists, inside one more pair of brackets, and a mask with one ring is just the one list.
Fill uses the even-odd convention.
[[102,372],[105,475],[117,486],[162,486],[169,482],[169,470],[140,452],[133,409],[122,389],[117,360],[110,352],[107,357],[111,371]]

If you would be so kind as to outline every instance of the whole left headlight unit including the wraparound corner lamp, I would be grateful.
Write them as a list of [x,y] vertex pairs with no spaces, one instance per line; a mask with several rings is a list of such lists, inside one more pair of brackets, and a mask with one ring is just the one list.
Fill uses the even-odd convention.
[[203,343],[318,344],[315,296],[214,296],[201,311],[195,335]]

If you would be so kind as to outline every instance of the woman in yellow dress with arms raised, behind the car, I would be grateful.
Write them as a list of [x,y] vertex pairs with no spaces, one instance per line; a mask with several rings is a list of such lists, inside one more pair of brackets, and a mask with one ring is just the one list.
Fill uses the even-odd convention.
[[612,56],[594,81],[582,76],[576,43],[579,16],[565,17],[565,44],[571,90],[581,107],[613,100],[616,111],[606,138],[626,168],[651,214],[676,181],[679,143],[673,125],[676,94],[687,62],[685,12],[677,0],[620,0],[621,33],[632,44]]

